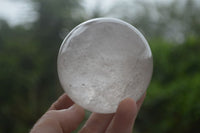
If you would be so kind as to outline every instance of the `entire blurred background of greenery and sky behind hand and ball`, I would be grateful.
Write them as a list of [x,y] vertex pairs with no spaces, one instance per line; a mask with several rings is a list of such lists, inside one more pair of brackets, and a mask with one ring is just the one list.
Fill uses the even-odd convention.
[[60,44],[95,17],[131,23],[152,49],[153,77],[134,133],[200,132],[199,13],[198,0],[0,0],[0,133],[29,132],[63,93]]

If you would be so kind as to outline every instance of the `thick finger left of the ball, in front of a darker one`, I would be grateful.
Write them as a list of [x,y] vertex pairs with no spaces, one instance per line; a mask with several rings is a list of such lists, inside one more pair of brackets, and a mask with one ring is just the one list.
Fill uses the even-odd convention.
[[84,119],[84,109],[74,104],[68,109],[46,112],[31,133],[71,133]]

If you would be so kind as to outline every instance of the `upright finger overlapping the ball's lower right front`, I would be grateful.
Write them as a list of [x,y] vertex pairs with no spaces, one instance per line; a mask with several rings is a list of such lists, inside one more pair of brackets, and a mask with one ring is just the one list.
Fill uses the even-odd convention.
[[131,98],[123,100],[111,121],[107,133],[131,133],[137,115],[137,105]]

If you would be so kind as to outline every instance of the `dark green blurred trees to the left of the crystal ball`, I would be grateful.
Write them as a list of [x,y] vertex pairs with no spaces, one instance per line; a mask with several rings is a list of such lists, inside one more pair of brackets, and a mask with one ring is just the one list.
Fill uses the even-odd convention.
[[61,34],[82,20],[77,0],[33,2],[39,17],[30,29],[0,22],[0,132],[28,132],[63,92],[56,71]]

